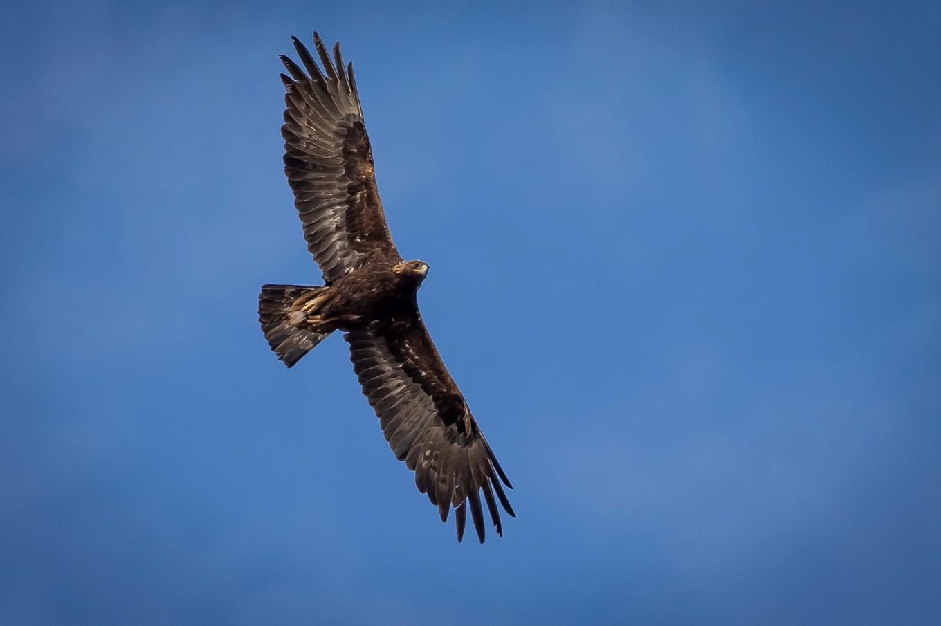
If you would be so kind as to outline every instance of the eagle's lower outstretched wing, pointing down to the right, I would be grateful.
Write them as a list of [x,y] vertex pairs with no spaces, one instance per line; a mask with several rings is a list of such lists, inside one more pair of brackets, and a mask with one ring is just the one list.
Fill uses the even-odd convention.
[[395,457],[415,472],[418,490],[437,505],[441,522],[455,507],[457,540],[464,537],[467,503],[477,537],[484,542],[484,513],[502,536],[500,510],[516,517],[500,481],[509,487],[497,457],[448,374],[418,313],[405,321],[356,329],[345,335],[362,393],[382,425]]

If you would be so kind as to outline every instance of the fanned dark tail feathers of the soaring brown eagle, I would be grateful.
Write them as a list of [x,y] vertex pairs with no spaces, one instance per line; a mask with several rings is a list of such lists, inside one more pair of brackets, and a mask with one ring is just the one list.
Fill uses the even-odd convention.
[[310,299],[313,292],[324,287],[296,284],[266,284],[258,297],[258,319],[262,323],[264,338],[275,354],[288,367],[293,366],[313,347],[324,341],[329,332],[314,332],[298,328],[306,315],[293,311],[298,298]]

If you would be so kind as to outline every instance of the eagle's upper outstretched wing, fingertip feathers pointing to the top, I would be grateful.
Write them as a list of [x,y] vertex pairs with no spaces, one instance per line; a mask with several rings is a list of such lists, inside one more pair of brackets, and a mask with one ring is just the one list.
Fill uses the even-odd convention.
[[334,66],[314,33],[325,75],[304,44],[292,40],[307,73],[280,56],[291,74],[281,74],[287,89],[281,126],[284,172],[295,193],[307,249],[324,279],[336,281],[377,257],[398,257],[398,251],[375,186],[373,150],[362,120],[353,64],[343,68],[338,41],[333,46]]

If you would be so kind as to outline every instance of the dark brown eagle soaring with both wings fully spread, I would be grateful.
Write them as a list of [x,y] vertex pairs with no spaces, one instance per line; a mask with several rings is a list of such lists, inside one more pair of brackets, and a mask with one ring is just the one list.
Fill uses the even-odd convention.
[[470,505],[483,543],[483,491],[502,537],[497,501],[516,517],[501,482],[512,485],[424,327],[417,294],[428,265],[403,260],[392,243],[353,64],[343,66],[339,41],[331,59],[314,33],[321,71],[304,44],[292,40],[307,72],[280,56],[290,74],[281,74],[284,172],[325,284],[263,285],[258,314],[264,336],[291,367],[342,330],[386,441],[415,472],[418,490],[438,506],[441,522],[454,506],[460,541]]

